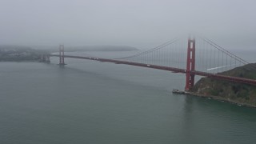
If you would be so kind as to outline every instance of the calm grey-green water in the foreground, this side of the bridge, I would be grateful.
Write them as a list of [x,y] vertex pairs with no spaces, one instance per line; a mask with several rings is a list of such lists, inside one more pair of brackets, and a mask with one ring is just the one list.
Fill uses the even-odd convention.
[[0,62],[0,143],[256,141],[256,109],[172,94],[183,74],[51,60]]

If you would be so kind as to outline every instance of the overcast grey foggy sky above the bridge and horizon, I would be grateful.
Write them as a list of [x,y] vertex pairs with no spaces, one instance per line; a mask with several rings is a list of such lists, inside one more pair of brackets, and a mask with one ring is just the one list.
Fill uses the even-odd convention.
[[255,0],[0,0],[0,44],[152,47],[195,33],[254,48]]

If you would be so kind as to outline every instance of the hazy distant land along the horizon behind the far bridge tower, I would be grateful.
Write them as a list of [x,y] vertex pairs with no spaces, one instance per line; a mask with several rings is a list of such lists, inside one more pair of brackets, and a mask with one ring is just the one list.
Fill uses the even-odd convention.
[[[66,52],[75,51],[131,51],[138,50],[131,46],[67,46]],[[58,46],[13,46],[0,45],[0,62],[38,62],[42,54],[58,52]]]

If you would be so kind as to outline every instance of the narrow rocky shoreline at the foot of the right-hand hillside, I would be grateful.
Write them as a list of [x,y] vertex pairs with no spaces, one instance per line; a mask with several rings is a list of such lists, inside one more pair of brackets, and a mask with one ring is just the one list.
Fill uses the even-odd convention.
[[248,104],[248,103],[235,102],[235,101],[230,100],[229,98],[220,98],[218,96],[213,96],[213,95],[204,95],[204,94],[198,94],[198,93],[194,93],[194,92],[186,92],[186,95],[196,96],[199,98],[212,98],[214,100],[221,101],[221,102],[229,102],[229,103],[235,104],[237,106],[246,106],[246,107],[250,107],[250,108],[256,108],[256,106]]

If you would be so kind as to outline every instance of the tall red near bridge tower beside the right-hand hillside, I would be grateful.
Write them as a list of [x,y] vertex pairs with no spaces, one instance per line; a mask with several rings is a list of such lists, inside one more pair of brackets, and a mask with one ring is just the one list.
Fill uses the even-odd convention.
[[194,86],[194,71],[195,67],[195,39],[188,38],[187,47],[187,58],[186,58],[186,87],[185,90],[188,91]]

